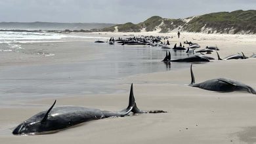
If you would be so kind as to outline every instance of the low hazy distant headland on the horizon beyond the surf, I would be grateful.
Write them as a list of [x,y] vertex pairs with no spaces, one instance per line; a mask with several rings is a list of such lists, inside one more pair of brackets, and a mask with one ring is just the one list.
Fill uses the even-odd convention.
[[26,29],[26,30],[89,30],[102,29],[116,24],[100,23],[57,23],[57,22],[0,22],[0,29]]

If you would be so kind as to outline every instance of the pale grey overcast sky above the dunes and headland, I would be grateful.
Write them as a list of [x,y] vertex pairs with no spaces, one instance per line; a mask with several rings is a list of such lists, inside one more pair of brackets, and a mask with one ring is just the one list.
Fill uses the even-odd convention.
[[0,0],[0,22],[142,22],[256,8],[256,0]]

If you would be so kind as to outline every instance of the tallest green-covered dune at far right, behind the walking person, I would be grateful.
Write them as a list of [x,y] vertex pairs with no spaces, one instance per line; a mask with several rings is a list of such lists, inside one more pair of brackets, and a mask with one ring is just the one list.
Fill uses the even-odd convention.
[[[256,10],[236,10],[233,12],[215,12],[193,18],[184,27],[185,31],[201,32],[212,29],[208,33],[256,33]],[[202,29],[203,28],[203,29]]]

